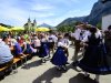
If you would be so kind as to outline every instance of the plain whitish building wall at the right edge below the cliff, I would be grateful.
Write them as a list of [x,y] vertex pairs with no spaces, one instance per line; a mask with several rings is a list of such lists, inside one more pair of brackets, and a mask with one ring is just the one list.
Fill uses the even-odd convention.
[[102,17],[102,30],[107,30],[111,25],[111,14]]

